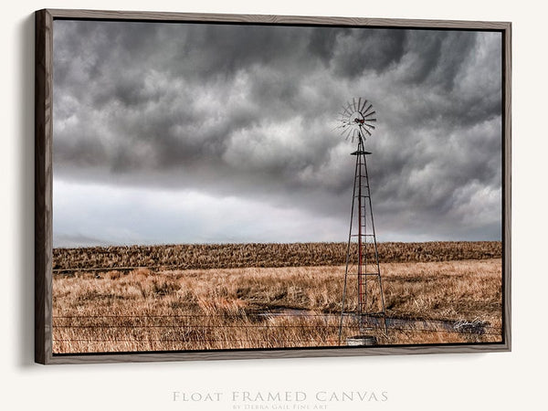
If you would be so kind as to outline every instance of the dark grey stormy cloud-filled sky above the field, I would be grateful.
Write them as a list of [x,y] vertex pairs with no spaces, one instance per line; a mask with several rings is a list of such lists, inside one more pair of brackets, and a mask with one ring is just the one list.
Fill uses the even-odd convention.
[[54,22],[54,247],[501,239],[501,34]]

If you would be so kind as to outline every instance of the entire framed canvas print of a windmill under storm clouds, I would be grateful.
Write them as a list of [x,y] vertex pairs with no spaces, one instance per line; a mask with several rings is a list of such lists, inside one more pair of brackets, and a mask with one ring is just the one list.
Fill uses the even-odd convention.
[[510,23],[36,28],[38,363],[510,350]]

